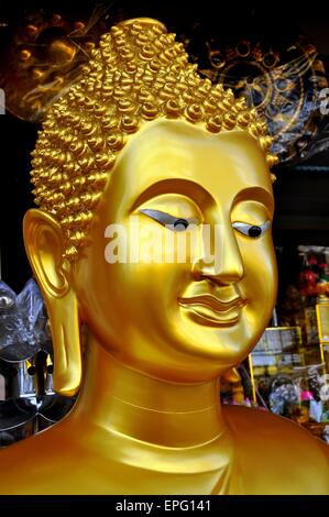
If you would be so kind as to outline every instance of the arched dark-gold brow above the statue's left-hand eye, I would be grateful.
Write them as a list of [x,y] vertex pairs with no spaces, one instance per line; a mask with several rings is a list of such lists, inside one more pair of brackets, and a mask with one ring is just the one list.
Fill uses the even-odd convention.
[[134,200],[130,211],[132,212],[136,210],[144,202],[150,201],[150,199],[153,199],[163,194],[179,194],[186,198],[191,199],[198,206],[201,206],[207,200],[213,202],[212,196],[199,184],[189,179],[166,178],[161,179],[145,188],[145,190],[143,190]]

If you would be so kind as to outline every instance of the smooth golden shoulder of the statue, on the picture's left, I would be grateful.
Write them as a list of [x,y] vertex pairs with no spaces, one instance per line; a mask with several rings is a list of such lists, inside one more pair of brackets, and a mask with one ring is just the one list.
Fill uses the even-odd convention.
[[127,493],[140,479],[140,470],[125,464],[118,449],[114,435],[64,418],[0,450],[0,494]]

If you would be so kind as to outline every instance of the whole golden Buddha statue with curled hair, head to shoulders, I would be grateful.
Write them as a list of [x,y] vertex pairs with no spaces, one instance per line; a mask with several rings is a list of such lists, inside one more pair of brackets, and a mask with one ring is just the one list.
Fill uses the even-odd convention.
[[102,36],[40,132],[40,209],[24,219],[54,387],[79,396],[57,425],[1,451],[1,493],[329,493],[325,443],[219,402],[220,376],[275,302],[270,146],[256,113],[201,79],[160,22]]

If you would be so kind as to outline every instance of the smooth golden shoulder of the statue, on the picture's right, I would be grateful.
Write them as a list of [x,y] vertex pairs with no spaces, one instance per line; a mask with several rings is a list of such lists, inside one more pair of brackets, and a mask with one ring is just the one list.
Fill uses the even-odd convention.
[[[241,406],[224,406],[237,440],[237,461],[249,493],[329,494],[329,447],[287,418]],[[266,481],[267,483],[266,483]]]

